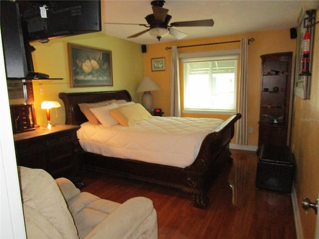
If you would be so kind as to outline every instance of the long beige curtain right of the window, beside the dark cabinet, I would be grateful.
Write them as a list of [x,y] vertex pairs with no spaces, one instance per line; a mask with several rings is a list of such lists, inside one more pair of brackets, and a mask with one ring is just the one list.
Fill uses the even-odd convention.
[[241,39],[240,73],[239,73],[239,106],[242,118],[237,121],[236,144],[247,145],[247,72],[248,72],[248,38]]

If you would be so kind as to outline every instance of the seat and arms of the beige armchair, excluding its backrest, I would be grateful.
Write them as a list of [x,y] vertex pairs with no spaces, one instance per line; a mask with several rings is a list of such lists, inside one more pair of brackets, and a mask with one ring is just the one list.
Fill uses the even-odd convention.
[[[66,178],[56,182],[65,199],[68,198],[79,238],[158,238],[157,213],[152,200],[136,197],[120,204],[80,193]],[[70,197],[71,194],[74,196]]]

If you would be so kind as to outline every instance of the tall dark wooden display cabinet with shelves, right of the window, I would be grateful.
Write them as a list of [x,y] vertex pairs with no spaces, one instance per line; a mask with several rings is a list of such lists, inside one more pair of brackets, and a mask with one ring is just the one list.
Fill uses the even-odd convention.
[[292,52],[262,55],[258,146],[287,145]]

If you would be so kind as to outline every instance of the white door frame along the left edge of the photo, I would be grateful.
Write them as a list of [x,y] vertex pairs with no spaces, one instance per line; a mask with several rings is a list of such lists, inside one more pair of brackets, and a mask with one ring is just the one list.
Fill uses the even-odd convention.
[[26,238],[0,32],[0,238]]

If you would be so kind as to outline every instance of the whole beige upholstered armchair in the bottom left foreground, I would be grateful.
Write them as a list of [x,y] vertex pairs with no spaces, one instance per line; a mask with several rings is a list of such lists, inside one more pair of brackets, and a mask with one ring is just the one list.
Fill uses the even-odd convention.
[[123,204],[80,192],[66,178],[18,167],[27,238],[158,238],[157,213],[144,197]]

